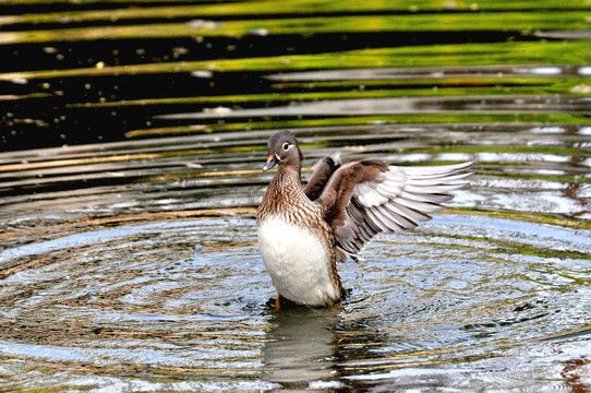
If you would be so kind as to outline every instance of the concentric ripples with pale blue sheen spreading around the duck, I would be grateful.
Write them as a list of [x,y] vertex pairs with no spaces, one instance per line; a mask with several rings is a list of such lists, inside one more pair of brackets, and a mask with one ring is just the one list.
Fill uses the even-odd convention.
[[284,312],[264,305],[254,234],[248,217],[164,221],[4,251],[37,263],[0,289],[3,388],[534,388],[589,369],[587,231],[437,215],[340,265],[339,307]]

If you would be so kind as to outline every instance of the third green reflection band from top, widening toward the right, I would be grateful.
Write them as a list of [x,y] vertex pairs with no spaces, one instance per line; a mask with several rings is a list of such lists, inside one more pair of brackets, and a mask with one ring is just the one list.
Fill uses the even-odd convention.
[[[587,64],[589,41],[532,41],[497,44],[447,44],[349,50],[318,55],[291,55],[244,59],[165,62],[71,70],[0,73],[0,81],[69,76],[99,76],[207,71],[293,71],[385,67]],[[571,86],[572,87],[572,86]]]

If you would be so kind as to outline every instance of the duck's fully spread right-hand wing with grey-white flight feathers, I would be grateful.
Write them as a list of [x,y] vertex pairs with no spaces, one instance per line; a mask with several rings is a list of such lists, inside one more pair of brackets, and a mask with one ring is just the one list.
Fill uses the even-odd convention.
[[359,260],[375,235],[414,228],[431,219],[427,213],[444,210],[442,203],[454,198],[448,192],[468,186],[456,180],[472,175],[467,169],[473,165],[396,167],[383,162],[351,163],[335,172],[318,201],[326,207],[325,218],[338,247]]

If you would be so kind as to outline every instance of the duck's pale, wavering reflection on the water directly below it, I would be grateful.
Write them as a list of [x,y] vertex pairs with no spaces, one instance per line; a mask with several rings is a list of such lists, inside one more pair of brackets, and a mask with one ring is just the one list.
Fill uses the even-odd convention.
[[339,311],[299,308],[275,312],[263,349],[263,379],[291,389],[305,389],[312,381],[334,381]]

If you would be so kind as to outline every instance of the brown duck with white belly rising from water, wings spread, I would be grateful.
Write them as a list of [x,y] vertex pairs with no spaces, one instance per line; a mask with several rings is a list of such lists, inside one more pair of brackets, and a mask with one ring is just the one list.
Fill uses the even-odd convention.
[[267,171],[278,166],[256,211],[258,249],[284,301],[331,307],[343,295],[337,262],[362,262],[362,251],[378,234],[415,228],[445,209],[450,191],[474,162],[393,166],[381,159],[342,164],[340,154],[321,158],[302,184],[303,154],[288,130],[268,139]]

